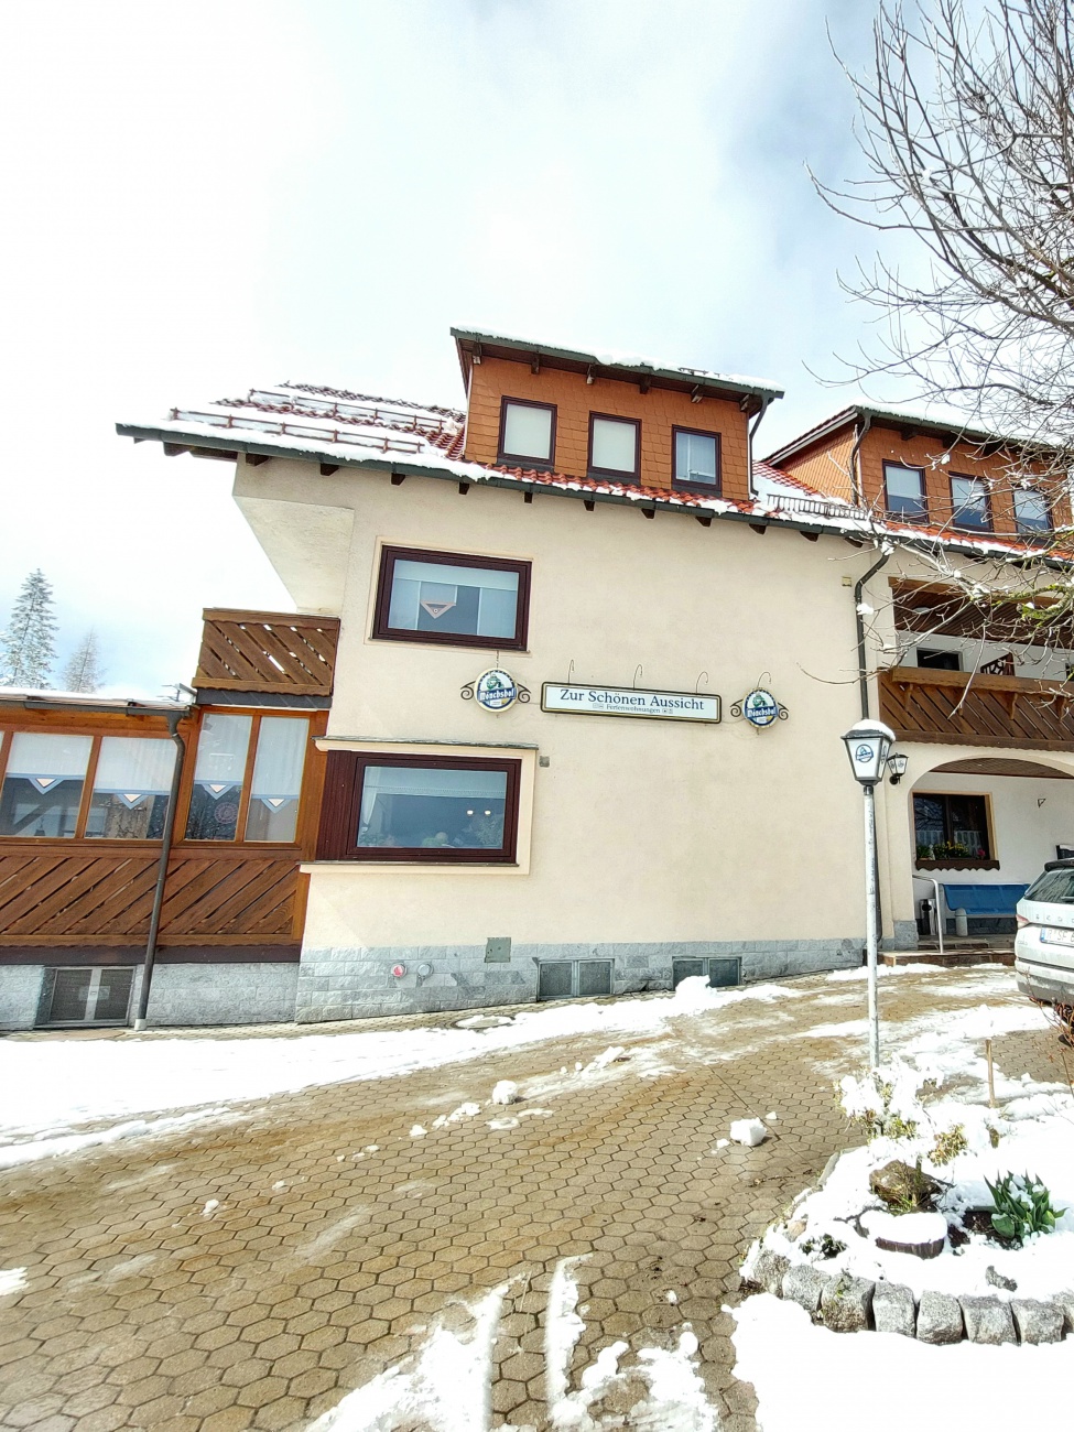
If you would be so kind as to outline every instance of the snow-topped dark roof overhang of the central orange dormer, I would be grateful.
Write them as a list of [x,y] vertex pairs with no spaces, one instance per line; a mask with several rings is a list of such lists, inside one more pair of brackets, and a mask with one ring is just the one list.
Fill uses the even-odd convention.
[[611,361],[607,355],[581,352],[574,348],[553,348],[548,344],[534,344],[521,338],[503,338],[497,334],[481,334],[468,328],[453,328],[451,337],[458,349],[463,381],[470,384],[470,369],[483,358],[503,358],[510,362],[530,364],[531,368],[557,368],[561,372],[576,372],[587,378],[604,378],[619,382],[643,384],[653,388],[670,388],[674,392],[700,394],[706,398],[723,398],[737,402],[748,414],[760,412],[773,398],[782,398],[783,390],[763,382],[735,378],[723,374],[703,372],[692,368],[659,368],[644,361]]

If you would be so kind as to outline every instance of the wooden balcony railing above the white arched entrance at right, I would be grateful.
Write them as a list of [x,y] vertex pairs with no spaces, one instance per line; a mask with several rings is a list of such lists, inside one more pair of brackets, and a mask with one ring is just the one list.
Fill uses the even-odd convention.
[[1061,682],[896,666],[879,689],[899,740],[1074,750],[1074,686]]

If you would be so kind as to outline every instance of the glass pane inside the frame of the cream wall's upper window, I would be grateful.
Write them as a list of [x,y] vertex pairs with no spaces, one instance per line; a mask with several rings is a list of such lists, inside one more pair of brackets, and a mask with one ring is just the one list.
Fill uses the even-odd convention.
[[513,639],[518,623],[518,573],[398,560],[388,626],[398,632]]

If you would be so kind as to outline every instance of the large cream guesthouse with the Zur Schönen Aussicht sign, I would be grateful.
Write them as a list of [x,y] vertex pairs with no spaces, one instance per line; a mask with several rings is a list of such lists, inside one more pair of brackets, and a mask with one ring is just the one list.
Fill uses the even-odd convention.
[[[1011,925],[1015,892],[1074,845],[1074,720],[1065,653],[992,596],[1044,580],[1065,485],[1012,474],[987,434],[865,408],[759,461],[770,384],[454,338],[460,411],[284,384],[119,425],[228,465],[301,613],[206,613],[218,664],[203,654],[179,726],[263,725],[269,707],[309,722],[292,839],[266,839],[268,816],[249,835],[252,726],[233,752],[212,737],[203,776],[231,789],[241,770],[248,833],[228,858],[286,869],[291,924],[274,916],[268,957],[261,929],[213,934],[208,908],[195,941],[166,899],[150,1018],[358,1018],[855,965],[861,800],[839,737],[863,713],[895,726],[909,768],[879,798],[885,947],[928,938],[929,899],[951,934]],[[334,646],[312,696],[295,684],[306,624]],[[169,884],[228,846],[193,816],[213,806],[190,759]],[[80,819],[69,861],[99,839]],[[54,922],[29,927],[52,948]],[[105,928],[87,944],[72,927],[64,948],[103,965],[123,944]]]

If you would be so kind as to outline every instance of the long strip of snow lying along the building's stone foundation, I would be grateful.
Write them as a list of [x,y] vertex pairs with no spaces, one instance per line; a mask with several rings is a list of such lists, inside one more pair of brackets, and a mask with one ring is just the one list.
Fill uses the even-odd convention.
[[[697,988],[695,988],[697,987]],[[169,1131],[175,1118],[82,1133],[87,1124],[268,1098],[316,1084],[390,1078],[420,1068],[483,1058],[546,1040],[589,1034],[647,1034],[680,1015],[743,1002],[800,998],[802,990],[755,985],[710,990],[686,979],[673,995],[614,1004],[561,1004],[524,1011],[484,1031],[378,1030],[289,1037],[3,1040],[0,1041],[0,1167],[93,1143]],[[176,1078],[182,1070],[182,1078]],[[208,1117],[199,1116],[199,1117]],[[72,1141],[72,1137],[82,1141]]]

